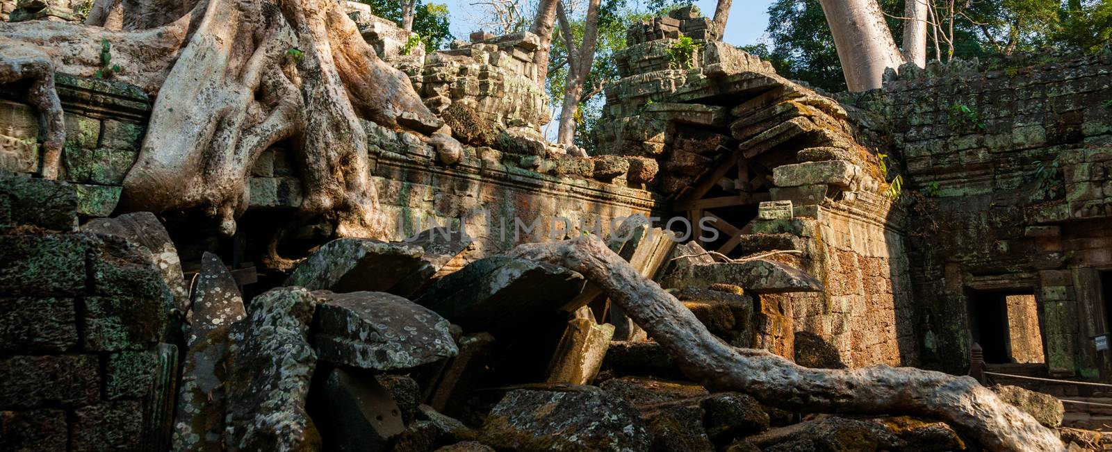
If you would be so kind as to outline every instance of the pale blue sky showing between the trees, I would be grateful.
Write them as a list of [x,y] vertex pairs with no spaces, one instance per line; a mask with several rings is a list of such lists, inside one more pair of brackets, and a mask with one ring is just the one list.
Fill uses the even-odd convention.
[[[470,3],[475,0],[433,0],[446,1],[448,11],[451,14],[451,33],[456,39],[466,40],[471,31],[478,29],[477,9]],[[725,41],[735,46],[747,46],[759,42],[764,36],[764,30],[768,26],[768,4],[773,0],[734,0],[733,9],[729,11],[729,21],[726,23]],[[714,14],[716,1],[699,0],[699,9],[707,16]],[[533,11],[528,11],[533,14]]]

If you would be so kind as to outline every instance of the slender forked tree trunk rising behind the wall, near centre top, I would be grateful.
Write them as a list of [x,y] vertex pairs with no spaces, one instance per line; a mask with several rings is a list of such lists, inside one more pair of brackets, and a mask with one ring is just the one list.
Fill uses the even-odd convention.
[[598,41],[598,7],[600,0],[588,0],[587,17],[583,32],[583,43],[576,48],[572,36],[572,23],[564,11],[564,4],[557,2],[556,14],[559,18],[560,34],[567,44],[567,82],[564,84],[564,101],[560,104],[559,130],[556,142],[572,144],[575,139],[575,115],[579,112],[579,96],[583,94],[583,83],[590,74],[595,62],[595,44]]

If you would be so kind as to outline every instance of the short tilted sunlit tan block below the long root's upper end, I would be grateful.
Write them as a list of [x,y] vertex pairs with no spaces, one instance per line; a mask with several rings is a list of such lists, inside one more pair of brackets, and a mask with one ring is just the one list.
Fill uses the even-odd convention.
[[603,365],[614,325],[572,319],[548,365],[548,383],[590,384]]

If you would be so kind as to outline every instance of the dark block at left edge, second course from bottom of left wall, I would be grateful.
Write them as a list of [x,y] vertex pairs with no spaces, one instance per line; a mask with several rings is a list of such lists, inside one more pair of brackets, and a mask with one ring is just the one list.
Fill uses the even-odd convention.
[[0,360],[0,410],[95,403],[100,398],[99,368],[93,354],[14,355]]

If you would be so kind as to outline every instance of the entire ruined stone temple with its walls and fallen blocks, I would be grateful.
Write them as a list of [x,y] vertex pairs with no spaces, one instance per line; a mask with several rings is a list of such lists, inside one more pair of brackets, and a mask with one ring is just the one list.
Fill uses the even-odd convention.
[[1112,48],[826,93],[681,8],[628,30],[586,155],[545,138],[536,36],[426,53],[344,12],[431,114],[359,118],[379,237],[304,209],[300,138],[254,159],[232,234],[228,204],[130,210],[160,94],[62,66],[49,180],[28,81],[0,83],[0,450],[1016,449],[943,409],[715,388],[529,248],[595,239],[723,346],[972,375],[1017,431],[1112,446],[1112,396],[1083,384],[1112,382]]

